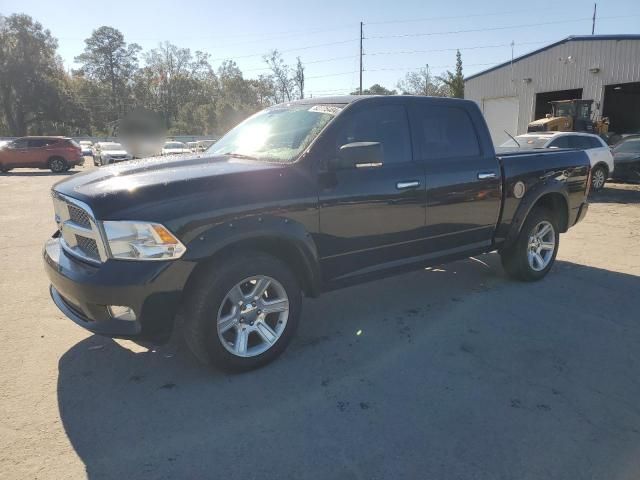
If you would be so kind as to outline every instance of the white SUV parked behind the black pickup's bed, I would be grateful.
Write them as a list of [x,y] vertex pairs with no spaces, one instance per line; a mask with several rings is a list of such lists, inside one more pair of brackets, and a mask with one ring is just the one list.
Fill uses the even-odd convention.
[[534,148],[578,148],[587,152],[591,162],[591,188],[596,191],[604,187],[613,173],[614,162],[611,148],[598,135],[581,132],[540,132],[518,135],[507,140],[496,150],[498,153],[513,149]]

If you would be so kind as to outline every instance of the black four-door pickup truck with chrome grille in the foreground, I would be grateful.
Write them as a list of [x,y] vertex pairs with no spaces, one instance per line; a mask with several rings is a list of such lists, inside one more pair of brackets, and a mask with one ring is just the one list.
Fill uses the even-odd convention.
[[478,107],[430,97],[277,105],[200,154],[134,160],[53,187],[51,296],[107,336],[183,333],[205,363],[281,353],[302,295],[497,250],[538,280],[587,211],[579,150],[496,156]]

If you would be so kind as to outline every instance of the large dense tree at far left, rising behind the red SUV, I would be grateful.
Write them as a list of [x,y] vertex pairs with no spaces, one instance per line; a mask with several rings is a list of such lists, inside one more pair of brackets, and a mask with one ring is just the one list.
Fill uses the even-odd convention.
[[0,108],[12,136],[66,133],[85,115],[69,88],[57,41],[30,16],[0,15]]

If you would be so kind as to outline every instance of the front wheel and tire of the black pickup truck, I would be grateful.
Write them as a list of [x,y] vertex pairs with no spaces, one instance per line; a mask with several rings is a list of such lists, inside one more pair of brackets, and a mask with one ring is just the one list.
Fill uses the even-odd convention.
[[[256,298],[255,289],[266,284],[266,294]],[[271,304],[269,297],[275,299]],[[241,301],[236,302],[238,299]],[[285,303],[286,312],[265,314],[261,310],[283,309]],[[230,371],[252,370],[286,349],[301,307],[298,280],[282,261],[263,253],[241,252],[198,275],[187,292],[183,334],[202,363]]]

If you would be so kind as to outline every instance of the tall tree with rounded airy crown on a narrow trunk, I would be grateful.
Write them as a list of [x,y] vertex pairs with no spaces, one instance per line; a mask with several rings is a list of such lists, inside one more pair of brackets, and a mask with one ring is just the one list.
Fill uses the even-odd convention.
[[85,40],[85,49],[75,58],[79,72],[109,90],[111,107],[105,121],[116,120],[127,111],[127,90],[138,69],[140,46],[127,45],[124,35],[112,27],[100,27]]

